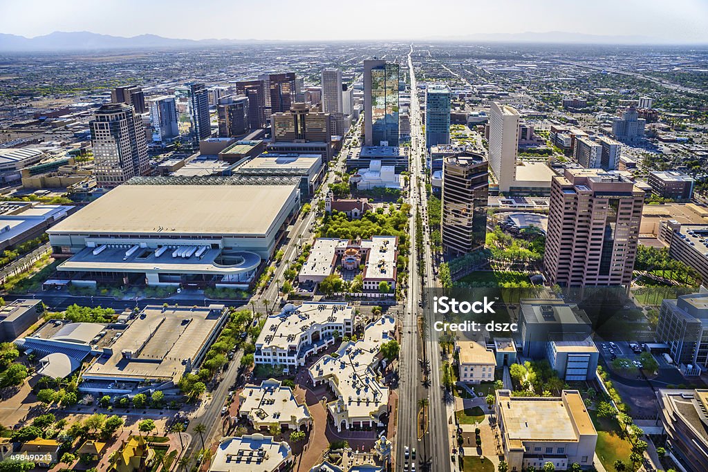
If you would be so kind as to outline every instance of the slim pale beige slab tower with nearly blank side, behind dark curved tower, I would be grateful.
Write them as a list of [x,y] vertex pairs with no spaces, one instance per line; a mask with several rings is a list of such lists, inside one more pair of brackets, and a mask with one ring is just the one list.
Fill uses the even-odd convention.
[[489,113],[489,166],[499,183],[500,192],[508,192],[516,180],[516,155],[520,115],[513,107],[491,103]]

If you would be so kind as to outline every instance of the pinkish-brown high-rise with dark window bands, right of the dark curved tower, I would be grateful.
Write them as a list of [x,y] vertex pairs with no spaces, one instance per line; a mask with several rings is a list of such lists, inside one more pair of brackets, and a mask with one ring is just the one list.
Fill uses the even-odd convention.
[[554,176],[545,275],[561,287],[632,281],[644,190],[621,173],[566,168]]

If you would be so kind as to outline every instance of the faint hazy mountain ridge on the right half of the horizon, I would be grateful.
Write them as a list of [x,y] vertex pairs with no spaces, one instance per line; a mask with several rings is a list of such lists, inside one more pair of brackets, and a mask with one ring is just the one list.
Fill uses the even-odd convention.
[[472,35],[433,36],[426,39],[435,41],[536,42],[595,45],[641,45],[666,43],[666,41],[649,38],[647,36],[588,35],[586,33],[568,33],[565,31],[548,31],[546,33],[474,33]]

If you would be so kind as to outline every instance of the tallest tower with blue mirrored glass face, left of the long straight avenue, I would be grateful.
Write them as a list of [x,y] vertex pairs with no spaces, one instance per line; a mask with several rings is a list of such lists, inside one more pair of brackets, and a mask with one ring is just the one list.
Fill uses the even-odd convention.
[[364,61],[364,134],[366,146],[399,145],[399,65]]

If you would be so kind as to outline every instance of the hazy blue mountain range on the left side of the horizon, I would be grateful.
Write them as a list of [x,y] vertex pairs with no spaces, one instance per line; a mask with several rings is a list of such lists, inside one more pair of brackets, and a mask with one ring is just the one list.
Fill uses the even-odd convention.
[[198,47],[205,45],[230,45],[255,40],[181,40],[157,35],[139,35],[132,38],[100,35],[88,31],[64,33],[55,31],[36,38],[0,33],[0,51],[86,51],[111,49],[149,49],[161,47]]

